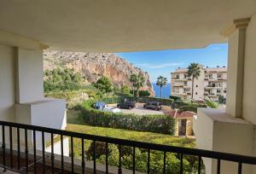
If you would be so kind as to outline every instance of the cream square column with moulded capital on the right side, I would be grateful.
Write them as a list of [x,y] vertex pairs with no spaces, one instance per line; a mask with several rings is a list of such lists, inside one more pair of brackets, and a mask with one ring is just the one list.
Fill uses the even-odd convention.
[[226,113],[242,117],[243,74],[245,38],[248,19],[234,20],[234,30],[229,36],[229,60]]

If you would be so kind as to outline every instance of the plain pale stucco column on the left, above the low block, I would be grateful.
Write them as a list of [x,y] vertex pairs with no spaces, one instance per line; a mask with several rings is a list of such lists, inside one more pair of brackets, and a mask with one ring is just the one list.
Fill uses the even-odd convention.
[[16,102],[34,102],[44,97],[43,50],[16,49]]

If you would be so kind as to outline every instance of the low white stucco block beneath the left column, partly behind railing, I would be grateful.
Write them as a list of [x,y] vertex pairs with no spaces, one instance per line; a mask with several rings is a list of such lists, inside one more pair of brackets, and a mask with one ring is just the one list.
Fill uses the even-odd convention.
[[[47,99],[37,102],[16,104],[16,122],[39,125],[54,129],[65,129],[67,126],[66,102],[59,99]],[[20,132],[20,140],[24,139],[24,132]],[[36,132],[37,148],[42,148],[42,133]],[[29,144],[32,144],[32,132],[28,131]],[[44,134],[44,142],[50,140],[50,134]]]

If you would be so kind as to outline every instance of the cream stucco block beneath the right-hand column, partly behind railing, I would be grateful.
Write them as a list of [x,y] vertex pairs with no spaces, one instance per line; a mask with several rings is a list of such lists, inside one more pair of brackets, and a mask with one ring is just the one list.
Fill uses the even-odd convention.
[[[224,110],[199,108],[194,119],[196,148],[232,154],[253,154],[254,125],[244,119],[226,114]],[[203,158],[207,173],[217,172],[217,160]],[[237,163],[221,161],[221,173],[237,173]],[[252,173],[252,165],[243,165],[245,174]]]

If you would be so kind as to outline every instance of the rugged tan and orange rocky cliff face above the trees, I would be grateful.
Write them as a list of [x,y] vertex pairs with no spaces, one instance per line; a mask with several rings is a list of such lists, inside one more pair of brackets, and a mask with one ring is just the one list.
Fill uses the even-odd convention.
[[146,80],[141,90],[149,90],[154,95],[148,73],[112,53],[44,51],[44,70],[55,67],[73,68],[75,72],[82,73],[89,83],[104,75],[119,87],[124,84],[131,86],[132,73],[141,74]]

